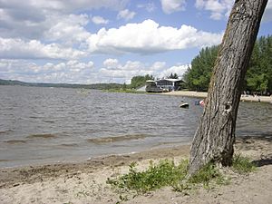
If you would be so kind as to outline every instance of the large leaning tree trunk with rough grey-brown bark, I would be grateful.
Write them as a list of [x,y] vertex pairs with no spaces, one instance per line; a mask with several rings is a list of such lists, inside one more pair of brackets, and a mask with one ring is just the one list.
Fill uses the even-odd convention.
[[235,1],[191,145],[189,174],[209,161],[231,164],[241,85],[266,5],[267,0]]

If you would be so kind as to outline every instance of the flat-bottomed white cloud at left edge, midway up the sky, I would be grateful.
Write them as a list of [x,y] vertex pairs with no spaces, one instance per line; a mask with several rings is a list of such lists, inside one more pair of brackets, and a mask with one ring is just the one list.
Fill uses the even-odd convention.
[[78,59],[86,53],[63,47],[60,44],[42,44],[40,41],[23,41],[0,37],[0,58],[2,59]]

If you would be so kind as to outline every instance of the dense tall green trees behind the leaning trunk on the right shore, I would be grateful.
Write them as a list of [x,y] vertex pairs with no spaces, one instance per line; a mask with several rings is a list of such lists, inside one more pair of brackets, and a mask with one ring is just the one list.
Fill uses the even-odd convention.
[[[219,46],[203,48],[192,60],[191,67],[183,75],[185,86],[189,90],[207,91]],[[249,92],[272,92],[272,36],[260,37],[254,46],[244,90]]]

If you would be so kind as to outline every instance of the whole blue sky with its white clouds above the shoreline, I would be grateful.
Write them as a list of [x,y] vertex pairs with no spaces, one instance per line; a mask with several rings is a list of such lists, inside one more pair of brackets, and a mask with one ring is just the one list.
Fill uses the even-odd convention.
[[[130,83],[180,76],[219,44],[233,0],[0,0],[0,78]],[[272,0],[259,30],[272,34]]]

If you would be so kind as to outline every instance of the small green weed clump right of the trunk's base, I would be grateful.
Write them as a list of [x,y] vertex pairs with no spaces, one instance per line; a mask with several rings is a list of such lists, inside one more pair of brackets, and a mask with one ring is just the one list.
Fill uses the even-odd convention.
[[256,166],[247,157],[243,157],[240,154],[236,154],[232,161],[233,170],[238,171],[238,173],[248,173],[256,170]]

